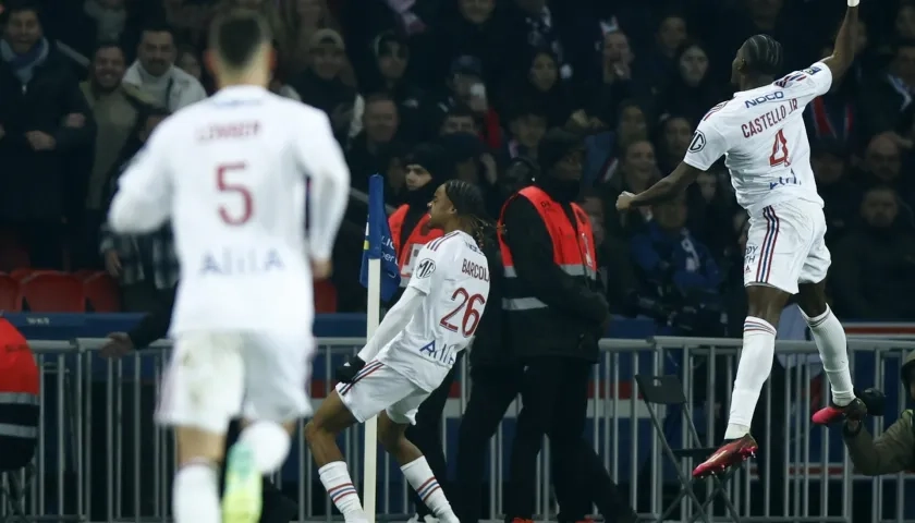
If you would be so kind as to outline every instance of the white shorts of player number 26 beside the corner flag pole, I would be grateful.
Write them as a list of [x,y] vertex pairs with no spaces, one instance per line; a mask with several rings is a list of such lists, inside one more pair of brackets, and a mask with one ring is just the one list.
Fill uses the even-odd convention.
[[366,363],[352,384],[337,384],[337,393],[359,423],[385,411],[401,425],[415,425],[416,411],[429,397],[428,391],[377,360]]

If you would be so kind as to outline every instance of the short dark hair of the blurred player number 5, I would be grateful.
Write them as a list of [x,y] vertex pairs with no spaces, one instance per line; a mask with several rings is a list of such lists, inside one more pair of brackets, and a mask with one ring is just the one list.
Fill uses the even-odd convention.
[[251,10],[233,9],[221,13],[210,25],[210,49],[233,69],[247,65],[260,46],[272,39],[267,21]]

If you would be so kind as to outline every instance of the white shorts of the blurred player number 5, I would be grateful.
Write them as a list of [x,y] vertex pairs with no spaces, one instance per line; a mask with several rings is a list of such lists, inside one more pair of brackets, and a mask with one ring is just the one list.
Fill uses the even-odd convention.
[[156,422],[222,434],[234,417],[288,422],[312,414],[310,333],[181,335],[162,377]]

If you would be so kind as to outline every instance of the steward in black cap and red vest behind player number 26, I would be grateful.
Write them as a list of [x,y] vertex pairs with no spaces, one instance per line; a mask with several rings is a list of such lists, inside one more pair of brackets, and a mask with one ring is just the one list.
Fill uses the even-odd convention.
[[[404,158],[404,166],[406,167],[405,203],[388,218],[401,272],[400,291],[394,296],[398,300],[410,283],[413,260],[416,259],[423,245],[442,235],[440,230],[429,229],[429,202],[432,200],[436,188],[451,179],[454,167],[448,151],[436,144],[417,145]],[[444,450],[441,448],[441,413],[451,393],[454,376],[461,367],[462,354],[457,357],[457,362],[451,367],[451,372],[438,389],[434,390],[419,406],[416,412],[416,424],[406,429],[406,438],[426,457],[432,473],[440,478],[439,482],[446,494],[450,488],[447,482],[441,479],[448,477],[448,464],[444,461]],[[431,516],[431,511],[412,488],[411,497],[416,506],[416,521]]]

